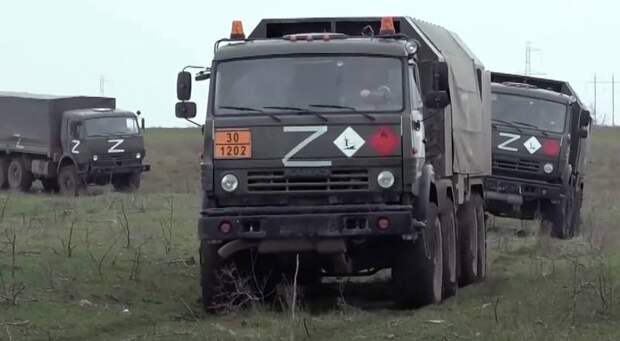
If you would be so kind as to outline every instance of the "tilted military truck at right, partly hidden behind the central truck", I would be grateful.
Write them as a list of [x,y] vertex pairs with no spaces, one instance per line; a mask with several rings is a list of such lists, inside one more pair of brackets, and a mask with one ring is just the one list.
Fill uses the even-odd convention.
[[488,211],[579,232],[591,115],[564,81],[492,73],[493,176]]

